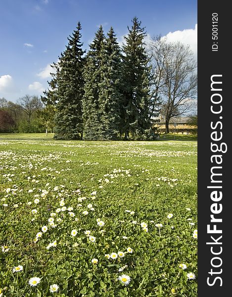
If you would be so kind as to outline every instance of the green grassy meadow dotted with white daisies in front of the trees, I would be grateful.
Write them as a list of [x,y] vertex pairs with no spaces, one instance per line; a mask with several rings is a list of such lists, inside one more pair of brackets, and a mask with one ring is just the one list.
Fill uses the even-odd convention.
[[197,142],[0,136],[0,297],[196,297]]

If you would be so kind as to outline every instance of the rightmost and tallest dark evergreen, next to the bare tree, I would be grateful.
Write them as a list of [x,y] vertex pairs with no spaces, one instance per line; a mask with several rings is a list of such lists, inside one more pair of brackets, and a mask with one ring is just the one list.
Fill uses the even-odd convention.
[[125,37],[123,45],[123,74],[124,91],[121,104],[120,132],[127,140],[129,133],[138,138],[150,128],[149,121],[149,72],[148,56],[143,39],[146,36],[144,28],[137,17]]

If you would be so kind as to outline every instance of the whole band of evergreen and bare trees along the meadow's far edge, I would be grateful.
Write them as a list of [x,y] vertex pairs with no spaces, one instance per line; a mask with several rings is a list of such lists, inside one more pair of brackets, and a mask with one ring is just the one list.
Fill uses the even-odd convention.
[[56,139],[65,140],[154,140],[162,113],[168,133],[170,119],[194,102],[196,63],[189,47],[161,37],[145,44],[145,36],[137,17],[122,47],[112,27],[105,35],[100,26],[86,52],[78,23],[51,65],[43,96],[2,99],[0,131],[54,130]]

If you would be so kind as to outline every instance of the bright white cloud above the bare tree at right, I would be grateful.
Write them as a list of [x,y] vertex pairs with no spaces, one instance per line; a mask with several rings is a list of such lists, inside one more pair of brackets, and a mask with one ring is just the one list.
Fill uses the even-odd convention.
[[180,41],[185,45],[189,45],[193,51],[195,59],[197,58],[197,24],[194,29],[185,29],[183,31],[169,32],[167,35],[168,42]]

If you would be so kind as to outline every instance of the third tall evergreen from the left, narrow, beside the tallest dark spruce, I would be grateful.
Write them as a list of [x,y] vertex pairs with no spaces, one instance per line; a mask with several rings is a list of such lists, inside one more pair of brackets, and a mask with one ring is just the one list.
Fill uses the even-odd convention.
[[119,103],[121,100],[122,62],[120,47],[112,27],[107,36],[102,63],[103,81],[99,86],[102,129],[99,139],[116,140],[120,123]]

